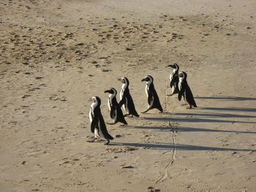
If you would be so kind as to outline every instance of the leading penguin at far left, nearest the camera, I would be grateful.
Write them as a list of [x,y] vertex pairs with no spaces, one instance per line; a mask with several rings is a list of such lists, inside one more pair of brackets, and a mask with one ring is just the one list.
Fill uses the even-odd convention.
[[113,137],[108,134],[102,112],[100,111],[101,101],[97,96],[92,97],[90,100],[92,101],[92,104],[89,112],[89,119],[91,121],[91,132],[94,133],[94,139],[87,142],[94,142],[96,139],[102,138],[107,140],[104,145],[108,145],[110,140],[113,140]]

